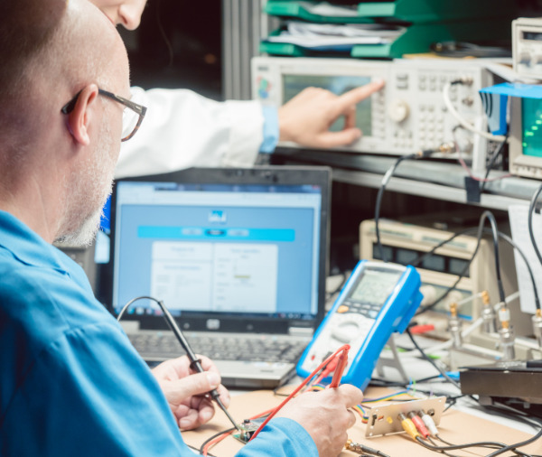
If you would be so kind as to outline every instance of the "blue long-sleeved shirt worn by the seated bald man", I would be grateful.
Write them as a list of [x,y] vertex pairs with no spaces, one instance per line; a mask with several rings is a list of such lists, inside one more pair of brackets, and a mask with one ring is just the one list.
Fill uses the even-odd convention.
[[[189,456],[151,371],[83,270],[0,211],[0,455]],[[317,455],[289,419],[238,456]]]

